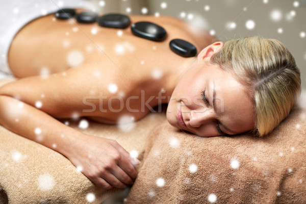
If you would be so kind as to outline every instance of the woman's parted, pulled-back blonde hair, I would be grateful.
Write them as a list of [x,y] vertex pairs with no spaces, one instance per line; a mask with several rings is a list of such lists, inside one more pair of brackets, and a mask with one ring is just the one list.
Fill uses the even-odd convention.
[[235,73],[255,108],[254,131],[270,133],[288,115],[301,92],[300,71],[283,43],[259,36],[230,40],[211,63]]

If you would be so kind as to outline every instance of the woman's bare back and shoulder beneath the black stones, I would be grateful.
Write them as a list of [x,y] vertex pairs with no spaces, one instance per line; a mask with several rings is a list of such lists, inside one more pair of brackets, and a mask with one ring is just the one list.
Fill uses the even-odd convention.
[[[103,28],[97,23],[55,20],[54,15],[27,24],[9,52],[12,72],[25,78],[15,83],[22,87],[19,97],[33,105],[42,101],[42,110],[55,117],[89,116],[107,123],[115,123],[123,114],[139,119],[150,107],[167,103],[176,79],[194,60],[171,52],[169,42],[184,39],[199,52],[214,38],[207,31],[191,32],[187,23],[172,17],[130,18],[131,24],[150,21],[161,25],[167,31],[166,39],[150,41],[134,36],[130,27]],[[32,77],[44,74],[51,75]],[[163,100],[151,97],[161,90]]]

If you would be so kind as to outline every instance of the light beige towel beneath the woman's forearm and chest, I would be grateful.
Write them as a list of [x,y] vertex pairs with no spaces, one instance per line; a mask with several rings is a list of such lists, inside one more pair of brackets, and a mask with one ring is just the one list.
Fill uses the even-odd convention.
[[[12,80],[0,82],[5,84]],[[149,132],[165,120],[164,113],[150,114],[130,126],[89,121],[86,130],[80,120],[62,120],[86,134],[115,139],[127,151],[142,159]],[[20,124],[22,125],[22,124]],[[0,126],[0,204],[17,203],[100,203],[117,189],[105,191],[93,185],[58,152],[16,135]]]

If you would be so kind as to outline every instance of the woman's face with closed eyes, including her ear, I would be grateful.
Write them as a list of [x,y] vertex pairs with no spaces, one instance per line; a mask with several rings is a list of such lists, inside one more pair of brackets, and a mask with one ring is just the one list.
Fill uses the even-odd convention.
[[236,135],[254,127],[249,90],[232,74],[210,63],[210,56],[222,46],[216,42],[203,49],[176,85],[167,111],[171,125],[204,137]]

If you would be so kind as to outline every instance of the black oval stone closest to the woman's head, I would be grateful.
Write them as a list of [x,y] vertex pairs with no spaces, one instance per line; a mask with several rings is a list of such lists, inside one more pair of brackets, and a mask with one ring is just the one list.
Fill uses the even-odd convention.
[[194,57],[196,55],[196,47],[185,40],[173,39],[169,46],[175,54],[182,57]]

